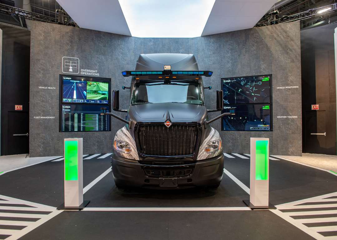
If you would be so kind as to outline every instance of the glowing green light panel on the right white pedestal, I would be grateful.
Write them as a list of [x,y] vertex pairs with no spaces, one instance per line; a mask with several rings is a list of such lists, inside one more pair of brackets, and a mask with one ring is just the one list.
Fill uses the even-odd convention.
[[268,180],[268,141],[256,141],[255,179]]

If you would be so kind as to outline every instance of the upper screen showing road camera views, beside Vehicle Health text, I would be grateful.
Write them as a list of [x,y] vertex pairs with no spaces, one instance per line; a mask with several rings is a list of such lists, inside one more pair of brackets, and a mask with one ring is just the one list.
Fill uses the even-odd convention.
[[62,76],[63,102],[108,104],[109,83],[86,81],[89,79]]

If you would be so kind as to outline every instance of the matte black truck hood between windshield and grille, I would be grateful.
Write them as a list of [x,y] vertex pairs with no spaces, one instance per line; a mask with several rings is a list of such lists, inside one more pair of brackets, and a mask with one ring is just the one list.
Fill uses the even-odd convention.
[[[174,122],[198,122],[202,115],[206,113],[206,107],[186,103],[147,103],[133,105],[129,108],[131,119],[134,117],[137,122],[157,122],[165,121],[167,112],[171,121]],[[133,115],[133,116],[132,116]]]

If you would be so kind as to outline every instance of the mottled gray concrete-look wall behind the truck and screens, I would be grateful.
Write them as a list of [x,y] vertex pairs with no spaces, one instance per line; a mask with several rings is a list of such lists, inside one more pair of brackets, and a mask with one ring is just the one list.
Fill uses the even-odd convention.
[[[215,108],[220,78],[273,74],[273,132],[223,132],[220,120],[212,123],[222,138],[224,152],[249,153],[250,137],[269,137],[270,154],[302,155],[300,25],[287,23],[196,38],[136,38],[124,35],[32,22],[30,69],[30,156],[63,155],[63,139],[83,137],[85,154],[110,153],[115,133],[123,123],[112,119],[111,132],[59,132],[59,74],[62,57],[80,59],[80,68],[97,70],[120,90],[120,107],[128,107],[132,70],[139,54],[194,54],[204,77],[207,108]],[[78,74],[81,75],[81,74]],[[41,90],[38,87],[55,87]],[[298,86],[294,89],[277,87]],[[125,113],[117,113],[125,117]],[[217,112],[210,113],[210,118]],[[36,119],[34,116],[55,116]],[[297,118],[277,118],[297,116]]]

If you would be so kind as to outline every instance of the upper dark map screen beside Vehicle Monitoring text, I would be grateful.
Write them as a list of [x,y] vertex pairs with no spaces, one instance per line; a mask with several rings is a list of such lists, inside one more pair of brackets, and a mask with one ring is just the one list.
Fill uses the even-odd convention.
[[270,103],[271,75],[221,78],[223,104]]

